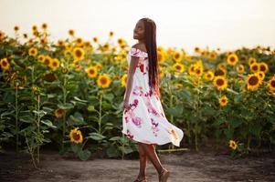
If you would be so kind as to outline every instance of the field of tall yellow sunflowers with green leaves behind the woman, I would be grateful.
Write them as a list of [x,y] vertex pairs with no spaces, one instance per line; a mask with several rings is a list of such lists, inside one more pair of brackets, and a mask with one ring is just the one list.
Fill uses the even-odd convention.
[[[123,38],[110,32],[105,42],[83,40],[71,29],[54,42],[47,24],[33,25],[29,35],[14,30],[13,37],[0,31],[1,152],[8,144],[37,165],[44,145],[81,160],[137,151],[121,132],[130,48]],[[183,146],[198,150],[215,140],[233,155],[274,147],[274,49],[195,47],[188,55],[158,46],[158,61],[165,115],[183,129]]]

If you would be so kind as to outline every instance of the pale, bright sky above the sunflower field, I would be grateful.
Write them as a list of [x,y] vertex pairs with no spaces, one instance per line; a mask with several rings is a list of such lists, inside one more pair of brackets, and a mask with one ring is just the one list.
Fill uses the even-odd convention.
[[48,24],[52,40],[76,36],[101,43],[124,38],[136,43],[132,31],[143,17],[157,26],[157,45],[234,50],[257,45],[275,48],[275,0],[0,0],[0,30],[31,33],[32,25]]

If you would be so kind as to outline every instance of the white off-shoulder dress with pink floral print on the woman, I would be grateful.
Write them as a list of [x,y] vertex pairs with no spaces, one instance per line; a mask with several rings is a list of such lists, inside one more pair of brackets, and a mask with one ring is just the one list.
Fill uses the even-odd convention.
[[131,109],[127,112],[124,110],[122,115],[122,133],[136,142],[153,145],[172,142],[179,147],[184,132],[167,120],[160,98],[149,87],[147,53],[132,47],[127,56],[129,66],[131,56],[139,57],[139,63],[133,75],[129,96]]

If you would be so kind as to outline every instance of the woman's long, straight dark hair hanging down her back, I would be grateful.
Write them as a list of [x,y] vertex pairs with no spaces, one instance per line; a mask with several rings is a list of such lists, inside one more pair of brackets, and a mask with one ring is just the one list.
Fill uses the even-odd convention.
[[160,97],[159,77],[158,77],[158,61],[157,61],[157,45],[156,45],[156,25],[150,18],[142,18],[144,25],[145,46],[149,59],[149,86],[153,88]]

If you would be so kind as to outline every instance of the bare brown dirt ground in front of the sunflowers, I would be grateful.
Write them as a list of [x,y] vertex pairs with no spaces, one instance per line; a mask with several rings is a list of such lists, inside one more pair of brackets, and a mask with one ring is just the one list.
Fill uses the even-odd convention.
[[[275,153],[234,159],[227,154],[201,150],[180,154],[159,154],[171,171],[170,182],[275,181]],[[14,152],[0,154],[0,181],[27,182],[132,182],[139,171],[139,160],[90,158],[81,161],[61,157],[58,151],[42,150],[40,170],[32,167],[30,157]],[[148,182],[157,182],[157,173],[147,163]]]

